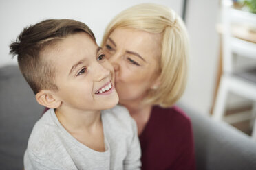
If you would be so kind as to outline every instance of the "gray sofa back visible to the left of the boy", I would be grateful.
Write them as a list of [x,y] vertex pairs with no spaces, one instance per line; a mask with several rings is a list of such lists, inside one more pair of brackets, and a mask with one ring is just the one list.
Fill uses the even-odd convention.
[[43,106],[17,65],[0,68],[0,169],[22,169],[23,154]]

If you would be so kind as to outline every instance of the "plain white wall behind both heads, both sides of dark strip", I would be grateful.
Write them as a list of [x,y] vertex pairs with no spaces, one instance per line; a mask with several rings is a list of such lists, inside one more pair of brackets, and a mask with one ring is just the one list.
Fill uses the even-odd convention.
[[[0,66],[16,64],[9,53],[10,42],[23,27],[43,19],[76,19],[86,23],[98,43],[109,21],[118,12],[138,3],[159,3],[182,14],[182,0],[6,0],[0,1]],[[189,82],[180,100],[208,114],[211,108],[217,69],[217,0],[188,0],[186,25],[191,38]]]

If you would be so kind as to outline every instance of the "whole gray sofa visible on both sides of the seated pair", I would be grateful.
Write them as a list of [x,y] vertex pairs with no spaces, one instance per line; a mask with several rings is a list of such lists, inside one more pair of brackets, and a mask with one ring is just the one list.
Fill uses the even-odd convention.
[[[23,153],[43,107],[19,73],[0,68],[0,169],[22,169]],[[256,169],[256,143],[226,123],[215,122],[179,104],[191,117],[197,169]]]

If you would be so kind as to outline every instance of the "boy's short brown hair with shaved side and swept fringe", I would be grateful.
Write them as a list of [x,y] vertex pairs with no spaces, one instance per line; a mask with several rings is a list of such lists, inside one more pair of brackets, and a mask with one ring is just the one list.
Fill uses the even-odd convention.
[[71,19],[48,19],[25,27],[16,41],[12,42],[10,53],[17,55],[19,69],[34,94],[43,89],[58,90],[54,84],[54,64],[52,60],[44,60],[42,53],[77,32],[85,32],[96,41],[85,23]]

